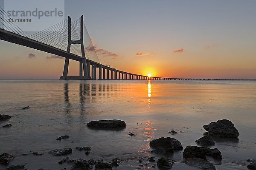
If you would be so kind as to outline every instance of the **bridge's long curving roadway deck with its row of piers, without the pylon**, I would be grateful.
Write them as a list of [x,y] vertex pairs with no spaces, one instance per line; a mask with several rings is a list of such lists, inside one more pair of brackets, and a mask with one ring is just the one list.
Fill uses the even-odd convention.
[[[0,40],[12,42],[15,44],[23,45],[29,48],[34,48],[50,54],[58,55],[76,61],[82,61],[82,57],[67,51],[52,47],[50,45],[32,40],[28,37],[23,37],[19,34],[12,33],[0,28]],[[90,59],[86,59],[87,71],[92,79],[96,79],[97,68],[99,72],[99,79],[151,79],[151,80],[243,80],[255,81],[256,79],[193,79],[193,78],[165,78],[165,77],[147,77],[139,74],[132,74],[125,71],[116,70],[115,68],[102,65]],[[88,67],[89,66],[89,67]],[[101,71],[100,71],[101,70]],[[110,73],[110,74],[109,74]],[[107,76],[106,76],[107,75]],[[82,79],[79,76],[68,76],[68,79]]]

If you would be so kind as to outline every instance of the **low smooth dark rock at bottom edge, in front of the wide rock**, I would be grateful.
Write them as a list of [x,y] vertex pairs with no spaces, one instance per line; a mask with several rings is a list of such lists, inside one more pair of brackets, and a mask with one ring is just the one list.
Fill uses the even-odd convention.
[[198,167],[202,170],[216,170],[214,164],[200,158],[187,159],[186,164],[192,167]]

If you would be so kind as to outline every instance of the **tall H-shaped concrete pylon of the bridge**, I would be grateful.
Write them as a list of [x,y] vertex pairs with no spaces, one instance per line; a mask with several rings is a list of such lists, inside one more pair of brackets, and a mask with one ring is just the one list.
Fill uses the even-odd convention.
[[[80,40],[71,40],[71,18],[68,16],[68,43],[67,43],[67,52],[70,52],[70,47],[72,44],[80,44],[81,45],[81,61],[79,61],[79,76],[68,76],[68,66],[69,66],[69,58],[65,58],[63,76],[60,79],[91,79],[88,73],[87,67],[90,68],[90,65],[87,65],[85,52],[84,52],[84,17],[81,15],[80,17]],[[83,75],[84,72],[84,75]]]

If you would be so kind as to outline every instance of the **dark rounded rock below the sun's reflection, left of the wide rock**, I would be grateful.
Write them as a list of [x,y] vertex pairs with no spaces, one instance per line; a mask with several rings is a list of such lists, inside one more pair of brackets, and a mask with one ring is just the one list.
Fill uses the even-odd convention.
[[183,148],[178,140],[170,137],[154,139],[149,143],[149,145],[152,147],[163,147],[166,152],[174,152],[174,150]]

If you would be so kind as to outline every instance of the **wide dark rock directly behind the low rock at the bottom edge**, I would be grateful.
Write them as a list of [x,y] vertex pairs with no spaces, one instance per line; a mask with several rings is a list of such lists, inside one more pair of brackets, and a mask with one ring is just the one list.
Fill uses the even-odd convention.
[[200,158],[207,160],[206,156],[222,159],[221,152],[217,148],[210,149],[207,147],[187,146],[183,151],[183,158]]

